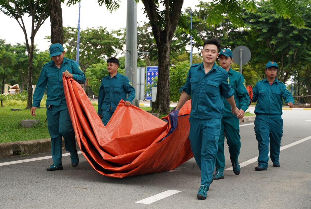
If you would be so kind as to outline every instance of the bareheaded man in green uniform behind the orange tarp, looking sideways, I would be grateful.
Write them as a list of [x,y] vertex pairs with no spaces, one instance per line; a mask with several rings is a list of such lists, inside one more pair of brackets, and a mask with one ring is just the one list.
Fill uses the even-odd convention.
[[[97,114],[107,125],[121,99],[126,106],[130,106],[135,98],[135,88],[125,75],[118,73],[119,60],[115,57],[107,59],[107,70],[109,75],[105,76],[100,83],[98,92]],[[126,99],[126,94],[128,98]]]

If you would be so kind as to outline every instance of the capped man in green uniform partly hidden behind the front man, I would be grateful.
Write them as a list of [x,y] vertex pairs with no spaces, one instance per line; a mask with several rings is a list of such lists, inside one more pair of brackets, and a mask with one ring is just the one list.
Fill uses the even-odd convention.
[[233,62],[232,51],[230,49],[221,49],[219,53],[220,66],[229,74],[230,86],[234,90],[234,101],[239,109],[238,116],[231,113],[230,104],[223,98],[224,109],[222,111],[221,129],[218,140],[218,151],[216,155],[216,173],[213,176],[214,180],[223,179],[225,169],[225,154],[224,143],[225,136],[229,146],[230,160],[235,175],[240,174],[240,165],[238,157],[240,154],[240,128],[239,119],[243,118],[245,111],[248,108],[249,96],[245,88],[244,77],[239,72],[234,71],[230,66]]

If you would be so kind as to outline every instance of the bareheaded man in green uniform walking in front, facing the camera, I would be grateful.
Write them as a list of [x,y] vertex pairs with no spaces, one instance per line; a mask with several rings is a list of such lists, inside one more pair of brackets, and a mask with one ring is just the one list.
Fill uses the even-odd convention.
[[219,48],[220,41],[215,38],[204,41],[201,51],[203,62],[190,67],[186,83],[180,88],[181,95],[176,107],[176,110],[180,109],[191,95],[189,140],[201,169],[201,186],[197,194],[200,199],[206,199],[213,180],[224,106],[222,97],[227,98],[235,115],[239,111],[234,103],[234,90],[230,87],[228,72],[215,63]]

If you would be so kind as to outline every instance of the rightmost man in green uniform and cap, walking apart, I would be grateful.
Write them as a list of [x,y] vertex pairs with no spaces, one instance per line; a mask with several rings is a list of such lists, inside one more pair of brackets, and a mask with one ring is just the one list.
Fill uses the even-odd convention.
[[276,79],[277,69],[276,62],[269,61],[265,69],[267,78],[258,81],[253,88],[252,101],[257,102],[254,124],[259,150],[258,166],[255,169],[258,171],[268,169],[269,142],[273,166],[280,167],[279,156],[283,135],[282,98],[290,108],[294,107],[293,96],[285,84]]

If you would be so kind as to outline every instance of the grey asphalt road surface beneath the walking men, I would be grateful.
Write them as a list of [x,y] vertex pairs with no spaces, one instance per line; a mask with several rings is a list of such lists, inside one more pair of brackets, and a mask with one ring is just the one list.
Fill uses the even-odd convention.
[[[63,157],[64,170],[46,171],[52,159],[0,166],[0,208],[311,208],[311,111],[283,111],[282,146],[305,139],[281,151],[280,168],[255,171],[257,162],[241,168],[236,176],[225,170],[225,178],[214,181],[206,200],[196,198],[200,171],[190,159],[174,172],[129,178],[109,178],[97,173],[79,154],[72,168]],[[258,156],[254,125],[240,127],[239,163]],[[307,138],[309,137],[309,138]],[[306,139],[307,138],[307,139]],[[49,156],[50,153],[0,159],[11,162]],[[231,167],[225,145],[226,169]],[[136,203],[168,190],[175,194],[150,204]]]

